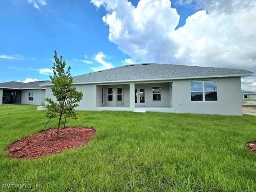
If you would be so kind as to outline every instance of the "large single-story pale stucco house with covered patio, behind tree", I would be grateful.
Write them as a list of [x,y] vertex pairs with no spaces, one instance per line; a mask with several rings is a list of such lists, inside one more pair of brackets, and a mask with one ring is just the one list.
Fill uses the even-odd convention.
[[[130,110],[242,116],[241,69],[131,64],[73,77],[77,110]],[[53,84],[44,83],[46,97]]]

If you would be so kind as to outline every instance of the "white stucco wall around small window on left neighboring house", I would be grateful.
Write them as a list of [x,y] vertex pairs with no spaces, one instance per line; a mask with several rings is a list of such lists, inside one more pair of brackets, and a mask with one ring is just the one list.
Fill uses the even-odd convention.
[[[33,100],[28,100],[28,93],[33,92]],[[44,89],[28,89],[21,92],[21,104],[41,105],[44,103]]]

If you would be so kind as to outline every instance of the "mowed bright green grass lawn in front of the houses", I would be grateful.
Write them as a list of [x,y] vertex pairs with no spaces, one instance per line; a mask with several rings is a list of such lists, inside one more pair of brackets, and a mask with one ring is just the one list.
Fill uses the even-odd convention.
[[[256,141],[255,116],[79,111],[79,126],[97,130],[89,144],[35,160],[8,158],[9,144],[42,130],[44,113],[31,105],[0,106],[0,188],[256,191],[256,153],[245,147]],[[46,128],[57,124],[51,120]]]

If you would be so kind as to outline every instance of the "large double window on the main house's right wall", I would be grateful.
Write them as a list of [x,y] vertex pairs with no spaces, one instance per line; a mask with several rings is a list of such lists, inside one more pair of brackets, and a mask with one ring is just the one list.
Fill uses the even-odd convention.
[[191,101],[217,101],[218,81],[190,82]]

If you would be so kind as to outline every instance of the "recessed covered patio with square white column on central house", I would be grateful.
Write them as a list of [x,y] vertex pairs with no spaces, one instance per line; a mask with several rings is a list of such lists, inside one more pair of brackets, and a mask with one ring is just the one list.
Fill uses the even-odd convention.
[[172,112],[172,82],[96,86],[97,110]]

